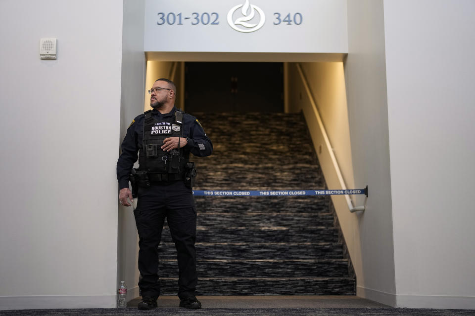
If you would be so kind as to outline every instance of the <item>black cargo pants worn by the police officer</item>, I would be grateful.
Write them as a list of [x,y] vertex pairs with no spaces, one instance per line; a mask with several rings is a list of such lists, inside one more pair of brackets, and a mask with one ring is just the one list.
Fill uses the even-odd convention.
[[139,232],[139,281],[142,297],[158,297],[158,244],[165,218],[177,249],[178,296],[194,295],[196,274],[196,208],[190,188],[181,180],[168,184],[152,184],[139,188],[138,205],[134,210]]

